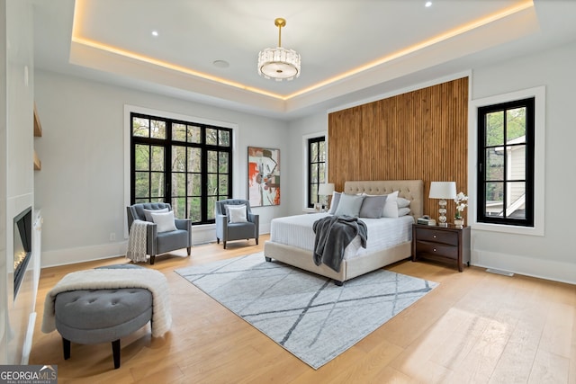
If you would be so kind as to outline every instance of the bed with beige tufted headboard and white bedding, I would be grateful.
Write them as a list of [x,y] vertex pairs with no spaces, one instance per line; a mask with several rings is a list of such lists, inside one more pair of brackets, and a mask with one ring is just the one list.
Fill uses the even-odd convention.
[[[377,229],[371,227],[370,223],[366,223],[368,226],[368,245],[366,249],[360,248],[359,252],[355,252],[352,255],[347,248],[344,260],[341,263],[341,268],[339,272],[330,269],[325,264],[316,265],[312,259],[313,253],[313,241],[312,246],[310,246],[310,238],[314,237],[311,223],[316,219],[320,219],[327,213],[312,213],[308,215],[298,215],[296,217],[288,218],[278,218],[273,219],[271,223],[270,240],[266,241],[264,245],[264,255],[267,261],[275,259],[282,263],[287,263],[295,267],[301,268],[303,270],[314,272],[322,276],[329,277],[333,279],[338,285],[341,285],[344,281],[360,276],[364,273],[374,271],[376,269],[382,268],[383,266],[389,265],[391,263],[396,263],[403,259],[410,257],[411,255],[411,224],[414,223],[414,218],[419,218],[422,216],[423,210],[423,183],[421,180],[392,180],[392,181],[349,181],[345,183],[344,193],[347,194],[358,194],[365,193],[367,195],[379,195],[379,194],[389,194],[398,191],[398,197],[410,201],[410,214],[404,219],[364,219],[363,221],[373,221],[382,220],[390,221],[397,220],[399,225],[404,226],[409,229],[409,234],[401,234],[392,239],[392,243],[383,249],[374,249],[371,246],[371,239],[378,239],[380,236]],[[306,227],[307,232],[298,235],[298,231],[302,231],[302,228],[291,229],[290,232],[293,235],[292,239],[287,239],[282,236],[286,233],[286,221],[291,221],[296,218],[303,219],[303,223],[299,222],[296,226]],[[376,236],[374,236],[376,234]],[[308,242],[304,241],[302,244],[302,237],[306,237]],[[306,239],[304,239],[306,240]],[[356,238],[354,243],[359,240]],[[357,246],[357,244],[356,244]]]

